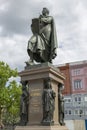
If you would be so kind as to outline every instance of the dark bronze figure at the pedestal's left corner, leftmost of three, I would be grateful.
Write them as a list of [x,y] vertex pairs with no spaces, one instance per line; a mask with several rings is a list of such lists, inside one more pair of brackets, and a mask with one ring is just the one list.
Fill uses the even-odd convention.
[[27,90],[27,82],[22,82],[22,95],[20,100],[20,125],[25,126],[28,121],[28,100],[29,93]]

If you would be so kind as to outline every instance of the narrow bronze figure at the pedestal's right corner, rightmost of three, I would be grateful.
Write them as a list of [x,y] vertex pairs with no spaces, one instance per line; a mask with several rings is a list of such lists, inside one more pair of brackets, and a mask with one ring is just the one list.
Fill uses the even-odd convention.
[[65,125],[65,123],[64,123],[64,96],[62,94],[62,90],[64,88],[63,88],[63,85],[61,83],[58,85],[58,88],[59,88],[59,95],[58,95],[58,100],[59,100],[59,123],[61,125]]

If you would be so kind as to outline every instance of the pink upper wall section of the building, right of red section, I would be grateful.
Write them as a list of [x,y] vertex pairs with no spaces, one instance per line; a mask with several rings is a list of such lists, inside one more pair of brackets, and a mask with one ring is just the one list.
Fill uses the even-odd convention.
[[76,62],[70,63],[70,81],[72,93],[87,92],[87,63]]

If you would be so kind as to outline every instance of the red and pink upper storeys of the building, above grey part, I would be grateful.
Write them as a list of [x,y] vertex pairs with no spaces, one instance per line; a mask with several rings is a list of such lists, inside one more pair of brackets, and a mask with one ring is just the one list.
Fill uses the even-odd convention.
[[87,61],[59,65],[65,75],[64,95],[87,92]]

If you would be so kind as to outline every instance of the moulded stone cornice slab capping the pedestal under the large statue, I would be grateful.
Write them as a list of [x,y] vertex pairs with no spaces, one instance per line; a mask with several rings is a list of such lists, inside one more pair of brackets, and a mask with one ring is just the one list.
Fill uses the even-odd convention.
[[19,76],[23,81],[38,80],[49,77],[55,82],[60,82],[62,84],[65,79],[64,75],[61,74],[59,69],[50,64],[49,62],[29,66],[24,71],[21,71],[19,73]]

